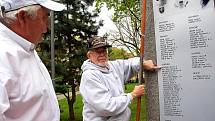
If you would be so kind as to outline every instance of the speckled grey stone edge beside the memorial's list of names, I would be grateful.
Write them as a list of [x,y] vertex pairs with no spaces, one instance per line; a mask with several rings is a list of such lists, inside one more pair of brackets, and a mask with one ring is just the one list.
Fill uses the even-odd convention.
[[[147,0],[147,21],[145,37],[145,59],[152,59],[156,63],[156,46],[154,33],[154,17],[152,0]],[[145,72],[146,85],[146,112],[147,121],[160,121],[159,90],[157,73]]]

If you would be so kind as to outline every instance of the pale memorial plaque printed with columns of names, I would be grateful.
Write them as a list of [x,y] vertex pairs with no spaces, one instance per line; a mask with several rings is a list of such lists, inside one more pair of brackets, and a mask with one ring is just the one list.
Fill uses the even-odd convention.
[[160,121],[215,121],[214,0],[153,0]]

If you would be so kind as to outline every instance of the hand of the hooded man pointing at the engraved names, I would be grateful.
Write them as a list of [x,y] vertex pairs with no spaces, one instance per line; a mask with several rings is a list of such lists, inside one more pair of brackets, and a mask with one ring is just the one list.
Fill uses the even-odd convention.
[[144,60],[143,61],[143,69],[145,69],[147,71],[155,71],[157,69],[160,69],[160,67],[155,65],[152,60]]

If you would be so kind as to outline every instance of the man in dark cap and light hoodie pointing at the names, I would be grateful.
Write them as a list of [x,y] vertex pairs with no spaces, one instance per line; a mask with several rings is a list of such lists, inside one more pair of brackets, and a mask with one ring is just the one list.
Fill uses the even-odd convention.
[[[124,82],[139,71],[139,58],[108,61],[107,48],[110,45],[102,37],[93,37],[88,42],[89,51],[82,65],[80,93],[83,97],[84,121],[129,121],[131,111],[128,105],[135,97],[144,93],[139,85],[131,93],[125,93]],[[145,60],[146,70],[157,68],[152,60]]]

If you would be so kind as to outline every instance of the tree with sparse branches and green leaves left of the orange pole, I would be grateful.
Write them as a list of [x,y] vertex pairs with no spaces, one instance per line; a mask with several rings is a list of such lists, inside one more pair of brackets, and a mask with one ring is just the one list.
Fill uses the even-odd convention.
[[140,1],[96,0],[97,9],[106,4],[114,9],[113,21],[117,31],[108,33],[113,44],[126,47],[133,55],[139,55],[140,46]]

